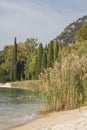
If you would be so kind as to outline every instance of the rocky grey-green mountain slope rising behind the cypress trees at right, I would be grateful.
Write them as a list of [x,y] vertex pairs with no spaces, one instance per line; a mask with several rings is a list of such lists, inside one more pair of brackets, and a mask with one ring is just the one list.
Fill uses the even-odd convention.
[[75,22],[67,26],[64,31],[57,36],[54,40],[58,42],[59,45],[70,45],[75,43],[75,34],[82,27],[84,23],[87,22],[87,15],[79,18]]

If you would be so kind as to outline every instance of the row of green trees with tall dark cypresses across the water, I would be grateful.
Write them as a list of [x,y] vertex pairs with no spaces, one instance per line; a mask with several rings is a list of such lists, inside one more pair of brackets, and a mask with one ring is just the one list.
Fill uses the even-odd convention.
[[47,67],[52,67],[58,58],[59,46],[51,41],[43,47],[37,39],[5,46],[0,52],[0,82],[38,79]]

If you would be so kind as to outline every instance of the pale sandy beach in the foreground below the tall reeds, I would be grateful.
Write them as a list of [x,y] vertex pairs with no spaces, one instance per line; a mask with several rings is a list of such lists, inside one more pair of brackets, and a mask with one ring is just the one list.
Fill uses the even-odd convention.
[[47,114],[11,130],[87,130],[87,107]]

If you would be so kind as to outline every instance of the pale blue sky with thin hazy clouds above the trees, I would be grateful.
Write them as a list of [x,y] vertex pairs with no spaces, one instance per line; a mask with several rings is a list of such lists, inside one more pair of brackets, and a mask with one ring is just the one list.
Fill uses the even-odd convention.
[[87,0],[0,0],[0,50],[38,38],[43,45],[87,15]]

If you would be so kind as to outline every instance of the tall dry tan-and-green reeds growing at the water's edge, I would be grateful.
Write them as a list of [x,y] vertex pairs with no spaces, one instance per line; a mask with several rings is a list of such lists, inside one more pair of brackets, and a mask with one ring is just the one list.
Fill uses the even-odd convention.
[[40,75],[44,111],[68,110],[84,103],[87,53],[78,55],[72,51],[76,48],[70,48],[70,54],[62,50],[61,58],[55,62],[54,68],[48,68]]

